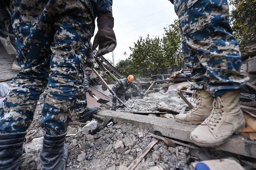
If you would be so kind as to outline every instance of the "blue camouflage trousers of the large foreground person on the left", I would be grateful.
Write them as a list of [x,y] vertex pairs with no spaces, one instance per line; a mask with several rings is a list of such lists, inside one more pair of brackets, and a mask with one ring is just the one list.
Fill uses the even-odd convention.
[[85,5],[76,0],[12,1],[16,57],[22,70],[8,90],[0,133],[28,129],[47,84],[42,128],[49,135],[66,132],[76,102],[80,63],[95,27]]

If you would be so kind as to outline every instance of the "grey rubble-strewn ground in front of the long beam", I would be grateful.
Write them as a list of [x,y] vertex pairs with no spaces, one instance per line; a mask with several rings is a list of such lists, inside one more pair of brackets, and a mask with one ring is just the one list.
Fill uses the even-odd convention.
[[[43,98],[41,97],[36,108],[34,121],[28,129],[27,141],[24,145],[26,153],[23,154],[20,164],[22,170],[40,169],[39,154],[43,137],[43,131],[40,127],[42,105]],[[106,111],[110,110],[106,109]],[[73,121],[76,121],[75,119],[76,117]],[[66,170],[115,170],[120,165],[128,167],[142,150],[156,140],[148,137],[148,131],[138,129],[126,122],[116,122],[112,127],[105,127],[96,134],[83,134],[83,126],[82,124],[75,124],[68,127],[66,143],[69,153]],[[40,142],[36,145],[34,141],[38,139]],[[118,143],[122,143],[123,146],[121,144],[121,149],[114,150]],[[32,146],[30,146],[31,144]],[[191,158],[198,160],[198,158],[190,156],[190,150],[187,147],[176,147],[177,149],[168,147],[163,141],[158,141],[144,156],[136,169],[146,170],[153,166],[159,166],[166,170],[188,169],[188,164],[186,164],[189,162],[188,160]]]

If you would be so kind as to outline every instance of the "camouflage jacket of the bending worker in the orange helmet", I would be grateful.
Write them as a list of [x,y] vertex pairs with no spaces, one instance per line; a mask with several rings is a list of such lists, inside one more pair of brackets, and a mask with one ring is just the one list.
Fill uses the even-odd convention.
[[112,91],[115,94],[124,94],[129,88],[134,88],[140,92],[140,89],[138,88],[138,86],[136,86],[136,84],[127,83],[127,78],[118,80],[118,82],[116,82],[116,84],[112,87]]

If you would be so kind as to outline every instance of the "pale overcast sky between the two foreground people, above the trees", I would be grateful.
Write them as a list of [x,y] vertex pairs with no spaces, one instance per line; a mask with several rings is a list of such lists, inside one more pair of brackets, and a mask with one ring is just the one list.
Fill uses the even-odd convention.
[[[113,0],[112,10],[117,41],[113,52],[114,64],[130,56],[129,47],[134,47],[140,36],[146,38],[149,34],[150,38],[162,38],[164,27],[178,19],[173,4],[168,0]],[[97,28],[94,35],[96,31]],[[112,53],[104,57],[112,61]]]

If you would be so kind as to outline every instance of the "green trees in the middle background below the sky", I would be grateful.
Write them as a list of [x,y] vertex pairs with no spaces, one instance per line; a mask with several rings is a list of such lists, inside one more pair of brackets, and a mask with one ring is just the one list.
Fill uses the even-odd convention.
[[175,20],[164,31],[162,39],[152,39],[149,35],[146,38],[140,37],[134,42],[134,47],[130,47],[130,57],[121,60],[116,68],[125,75],[133,74],[138,77],[145,76],[145,72],[157,72],[159,68],[183,65],[178,21]]

